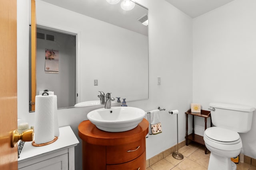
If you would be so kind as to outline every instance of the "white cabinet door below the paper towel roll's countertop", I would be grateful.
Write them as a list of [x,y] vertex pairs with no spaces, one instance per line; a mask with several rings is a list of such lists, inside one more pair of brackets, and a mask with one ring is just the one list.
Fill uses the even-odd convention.
[[20,168],[19,170],[68,170],[68,153]]

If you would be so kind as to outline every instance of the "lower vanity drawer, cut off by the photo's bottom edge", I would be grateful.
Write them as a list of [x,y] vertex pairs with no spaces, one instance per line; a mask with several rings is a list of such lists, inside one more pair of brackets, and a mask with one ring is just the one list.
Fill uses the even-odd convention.
[[118,165],[107,165],[107,170],[146,170],[146,152],[137,159]]

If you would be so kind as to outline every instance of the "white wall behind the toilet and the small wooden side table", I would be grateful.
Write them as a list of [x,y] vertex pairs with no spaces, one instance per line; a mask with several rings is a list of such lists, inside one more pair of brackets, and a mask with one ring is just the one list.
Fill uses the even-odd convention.
[[[256,107],[255,9],[255,0],[234,0],[193,19],[193,102],[203,109],[210,102]],[[255,115],[255,133],[254,122]],[[255,134],[241,136],[245,154],[256,158]]]

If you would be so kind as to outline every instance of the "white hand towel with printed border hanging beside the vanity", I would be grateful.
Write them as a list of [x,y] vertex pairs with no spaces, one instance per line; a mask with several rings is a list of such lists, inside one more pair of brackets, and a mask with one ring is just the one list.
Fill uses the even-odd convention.
[[151,131],[153,135],[162,133],[162,126],[160,122],[159,113],[160,113],[159,109],[150,111],[150,125],[151,125]]

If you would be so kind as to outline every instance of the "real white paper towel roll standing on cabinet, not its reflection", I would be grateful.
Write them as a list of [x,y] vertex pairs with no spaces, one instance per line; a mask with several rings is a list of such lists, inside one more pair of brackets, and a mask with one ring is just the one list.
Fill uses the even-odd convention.
[[54,95],[36,96],[35,143],[42,144],[54,139]]

